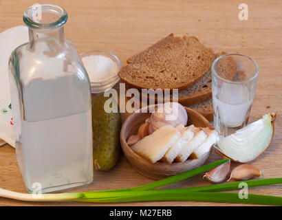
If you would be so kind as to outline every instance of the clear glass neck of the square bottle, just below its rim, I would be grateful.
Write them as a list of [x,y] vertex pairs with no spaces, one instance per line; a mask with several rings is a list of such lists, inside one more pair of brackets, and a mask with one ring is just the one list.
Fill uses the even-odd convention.
[[48,29],[34,29],[28,28],[28,34],[30,37],[30,45],[34,45],[34,42],[38,39],[52,39],[58,44],[63,45],[65,43],[65,34],[63,26],[60,28],[48,28]]

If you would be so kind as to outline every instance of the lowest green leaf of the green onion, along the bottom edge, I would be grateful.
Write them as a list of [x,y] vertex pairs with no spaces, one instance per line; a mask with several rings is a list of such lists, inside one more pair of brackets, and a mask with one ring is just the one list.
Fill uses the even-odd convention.
[[[102,194],[101,194],[102,193]],[[113,193],[113,194],[112,194]],[[210,201],[226,203],[247,203],[270,206],[282,206],[282,197],[248,194],[248,199],[240,199],[235,192],[191,192],[186,189],[146,190],[135,192],[98,192],[97,199],[86,199],[87,195],[78,201],[92,203],[115,203],[132,201]],[[103,195],[103,194],[111,194]]]

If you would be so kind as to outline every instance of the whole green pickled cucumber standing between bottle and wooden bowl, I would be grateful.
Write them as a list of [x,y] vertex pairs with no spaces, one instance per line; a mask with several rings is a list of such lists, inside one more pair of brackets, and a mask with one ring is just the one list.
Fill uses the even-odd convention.
[[[97,94],[92,100],[93,160],[96,170],[109,170],[120,156],[120,113],[107,113],[108,97]],[[117,105],[116,105],[117,106]]]

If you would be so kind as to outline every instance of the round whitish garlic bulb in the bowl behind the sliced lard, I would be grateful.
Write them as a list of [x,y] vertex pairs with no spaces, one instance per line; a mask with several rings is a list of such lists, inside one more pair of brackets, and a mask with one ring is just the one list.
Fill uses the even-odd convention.
[[183,124],[186,126],[188,115],[186,109],[178,102],[165,102],[158,104],[155,112],[152,113],[149,122],[149,134],[160,129],[164,125],[177,126]]

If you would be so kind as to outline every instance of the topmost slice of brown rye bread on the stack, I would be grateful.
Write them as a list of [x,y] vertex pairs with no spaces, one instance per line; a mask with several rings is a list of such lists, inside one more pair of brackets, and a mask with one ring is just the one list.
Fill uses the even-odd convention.
[[132,56],[118,75],[137,89],[179,89],[197,83],[210,69],[212,54],[194,36],[169,34]]

